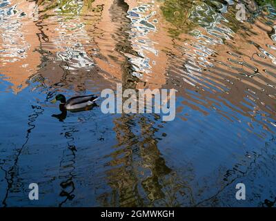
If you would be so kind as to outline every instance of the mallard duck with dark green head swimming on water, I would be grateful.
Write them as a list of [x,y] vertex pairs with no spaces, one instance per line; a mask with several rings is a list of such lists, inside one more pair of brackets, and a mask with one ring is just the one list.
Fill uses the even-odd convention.
[[55,104],[55,102],[59,101],[60,102],[60,108],[63,110],[68,110],[68,111],[74,111],[74,110],[79,110],[79,109],[86,109],[95,104],[95,101],[99,97],[95,95],[84,95],[84,96],[77,96],[77,97],[72,97],[68,99],[66,102],[66,97],[64,95],[57,95],[55,99],[52,100],[52,103]]

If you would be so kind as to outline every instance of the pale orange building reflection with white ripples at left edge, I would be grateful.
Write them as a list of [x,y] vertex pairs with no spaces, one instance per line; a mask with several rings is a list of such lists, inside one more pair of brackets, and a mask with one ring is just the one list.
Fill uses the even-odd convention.
[[14,93],[19,93],[40,64],[38,8],[34,1],[10,0],[6,3],[0,9],[3,18],[0,19],[0,73],[12,83]]

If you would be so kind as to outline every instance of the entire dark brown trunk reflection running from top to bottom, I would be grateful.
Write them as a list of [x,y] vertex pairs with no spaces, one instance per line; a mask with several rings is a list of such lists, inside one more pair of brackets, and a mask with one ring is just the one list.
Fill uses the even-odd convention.
[[[129,23],[127,12],[128,5],[123,1],[113,3],[111,19],[114,18],[115,26],[117,23]],[[130,30],[128,26],[124,27],[123,30],[117,30],[115,36],[124,35],[128,39],[126,33]],[[117,52],[126,55],[132,50],[132,44],[126,44],[127,41],[124,41],[123,48],[121,41],[116,46]],[[132,62],[127,57],[121,70],[123,90],[135,90],[139,79],[132,75]],[[158,123],[158,116],[155,117]],[[156,123],[155,117],[150,119],[139,114],[122,113],[121,117],[114,119],[117,145],[109,155],[112,160],[108,162],[110,169],[106,171],[106,180],[112,191],[98,197],[102,206],[146,206],[164,198],[164,186],[161,186],[159,180],[169,175],[172,170],[161,157],[157,145],[155,133],[158,128],[153,126]]]

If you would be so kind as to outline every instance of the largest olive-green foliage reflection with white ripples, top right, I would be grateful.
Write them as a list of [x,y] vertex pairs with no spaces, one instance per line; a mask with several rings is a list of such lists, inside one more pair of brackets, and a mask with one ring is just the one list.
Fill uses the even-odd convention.
[[[190,33],[197,26],[212,28],[216,23],[223,23],[227,19],[227,26],[237,31],[235,13],[225,13],[221,16],[220,10],[224,8],[219,1],[191,1],[191,0],[165,0],[160,7],[166,21],[172,24],[168,32],[177,37],[181,33]],[[231,6],[230,10],[233,10]]]

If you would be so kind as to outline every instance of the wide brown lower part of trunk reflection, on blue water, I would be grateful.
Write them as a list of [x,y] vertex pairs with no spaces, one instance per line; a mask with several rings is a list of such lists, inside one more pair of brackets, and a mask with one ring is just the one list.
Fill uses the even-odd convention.
[[[118,144],[110,155],[111,169],[106,171],[108,184],[114,192],[108,195],[108,199],[107,195],[99,197],[101,202],[105,202],[103,206],[150,206],[163,199],[164,186],[160,180],[170,174],[171,169],[166,166],[157,147],[155,132],[158,130],[150,126],[146,117],[130,115],[115,119],[114,129]],[[134,134],[137,130],[139,137]],[[116,198],[116,202],[110,201]]]

